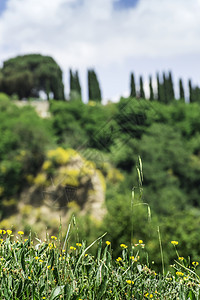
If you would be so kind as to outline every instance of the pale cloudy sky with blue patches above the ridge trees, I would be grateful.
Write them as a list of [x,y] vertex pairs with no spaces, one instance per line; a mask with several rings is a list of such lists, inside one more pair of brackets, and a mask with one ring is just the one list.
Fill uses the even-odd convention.
[[17,55],[52,56],[63,71],[78,70],[87,101],[87,69],[94,68],[103,101],[136,83],[171,71],[174,84],[200,85],[200,0],[0,0],[0,65]]

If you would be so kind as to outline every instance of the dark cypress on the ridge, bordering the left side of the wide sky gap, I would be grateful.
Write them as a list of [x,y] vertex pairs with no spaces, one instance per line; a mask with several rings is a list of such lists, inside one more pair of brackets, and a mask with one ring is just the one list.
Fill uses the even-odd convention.
[[94,70],[88,70],[88,96],[89,100],[101,102],[101,90]]

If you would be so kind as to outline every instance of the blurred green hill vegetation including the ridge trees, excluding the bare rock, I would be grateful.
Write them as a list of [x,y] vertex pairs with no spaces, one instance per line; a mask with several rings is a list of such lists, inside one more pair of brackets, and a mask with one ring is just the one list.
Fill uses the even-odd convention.
[[[31,71],[34,60],[37,66]],[[26,78],[26,72],[27,80],[21,80]],[[25,77],[20,77],[22,73]],[[49,77],[50,73],[53,77]],[[181,79],[180,97],[175,99],[171,73],[163,74],[162,78],[157,74],[157,91],[153,90],[150,77],[150,97],[145,99],[143,79],[140,77],[138,90],[132,73],[131,96],[102,105],[97,76],[94,70],[89,70],[90,101],[83,103],[78,71],[71,70],[70,74],[70,96],[68,101],[63,101],[62,73],[51,58],[29,55],[4,63],[0,72],[0,228],[18,229],[11,217],[20,215],[21,195],[36,185],[44,191],[52,178],[60,176],[62,164],[66,164],[69,176],[73,161],[67,165],[67,159],[75,151],[85,162],[88,174],[91,170],[98,172],[106,211],[97,220],[89,213],[83,215],[80,203],[69,203],[70,214],[81,226],[80,240],[91,243],[107,232],[115,259],[121,253],[118,245],[126,243],[131,248],[142,239],[149,266],[154,262],[156,271],[162,270],[163,265],[173,264],[176,253],[170,241],[174,240],[179,242],[180,257],[190,256],[198,262],[199,88],[189,81],[190,102],[187,103]],[[23,94],[23,84],[29,82],[29,77],[33,85]],[[54,90],[51,80],[58,83],[59,91]],[[47,98],[51,98],[51,93],[55,98],[49,99],[50,116],[46,119],[40,118],[31,106],[20,108],[12,102],[13,93],[19,97],[35,97],[41,90]],[[49,153],[56,155],[49,157]],[[70,172],[70,185],[79,186],[83,177],[77,171]],[[32,197],[32,204],[38,199]],[[26,215],[29,219],[31,210]],[[38,213],[36,220],[42,218]],[[22,217],[18,224],[24,226],[20,229],[28,235],[30,227],[23,222]],[[51,222],[45,226],[55,231]],[[72,236],[71,242],[75,243],[76,237]]]

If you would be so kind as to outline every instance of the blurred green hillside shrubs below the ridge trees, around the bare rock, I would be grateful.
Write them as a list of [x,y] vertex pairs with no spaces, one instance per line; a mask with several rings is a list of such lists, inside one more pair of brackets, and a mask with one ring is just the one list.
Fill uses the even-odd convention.
[[[95,164],[107,186],[107,213],[101,222],[81,216],[80,208],[74,210],[81,224],[81,239],[92,242],[108,232],[114,257],[119,255],[117,245],[126,242],[130,246],[143,239],[157,271],[161,268],[159,226],[166,265],[175,258],[171,240],[179,241],[180,256],[190,255],[198,261],[198,103],[173,101],[166,105],[122,98],[119,103],[103,106],[92,101],[51,101],[48,119],[41,119],[29,106],[16,107],[5,95],[1,95],[0,106],[2,229],[14,226],[9,216],[16,213],[20,194],[30,186],[30,175],[36,178],[41,172],[48,151],[58,146],[73,148]],[[142,190],[136,172],[139,155],[144,174]]]

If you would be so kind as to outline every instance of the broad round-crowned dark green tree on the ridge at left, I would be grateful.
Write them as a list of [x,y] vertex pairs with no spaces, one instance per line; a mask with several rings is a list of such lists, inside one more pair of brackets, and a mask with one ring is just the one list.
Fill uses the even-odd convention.
[[0,90],[19,98],[39,97],[41,91],[53,98],[64,99],[62,71],[50,56],[29,54],[17,56],[3,63],[0,70]]

